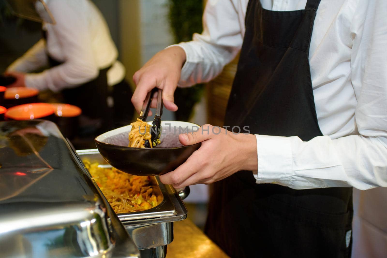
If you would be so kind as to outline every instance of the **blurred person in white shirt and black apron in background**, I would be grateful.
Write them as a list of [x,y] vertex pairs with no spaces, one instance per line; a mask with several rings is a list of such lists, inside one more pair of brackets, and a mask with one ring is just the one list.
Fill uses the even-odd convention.
[[80,134],[96,136],[129,122],[132,91],[101,12],[91,0],[44,2],[56,24],[43,22],[42,39],[7,68],[17,79],[9,87],[61,92],[63,102],[82,109]]

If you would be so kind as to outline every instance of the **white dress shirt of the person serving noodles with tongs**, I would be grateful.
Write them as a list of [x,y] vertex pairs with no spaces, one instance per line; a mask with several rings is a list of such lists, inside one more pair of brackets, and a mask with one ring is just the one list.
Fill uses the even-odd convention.
[[[307,0],[261,0],[269,10]],[[240,51],[248,0],[209,0],[202,34],[180,43],[180,87],[209,81]],[[387,1],[321,0],[310,44],[317,118],[324,136],[257,135],[257,183],[295,189],[387,187]]]

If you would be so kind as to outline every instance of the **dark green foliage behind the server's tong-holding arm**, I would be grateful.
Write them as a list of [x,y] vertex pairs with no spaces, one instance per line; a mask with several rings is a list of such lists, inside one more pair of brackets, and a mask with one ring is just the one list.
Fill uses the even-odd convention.
[[[169,0],[169,2],[169,20],[176,43],[190,41],[195,32],[202,32],[202,0]],[[175,104],[179,107],[175,112],[176,120],[189,120],[193,115],[193,107],[200,101],[203,92],[204,85],[202,84],[176,89]]]

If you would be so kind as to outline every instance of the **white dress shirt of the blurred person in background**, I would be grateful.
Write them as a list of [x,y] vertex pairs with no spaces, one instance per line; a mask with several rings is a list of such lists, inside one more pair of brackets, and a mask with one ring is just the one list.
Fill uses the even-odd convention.
[[43,24],[47,43],[39,40],[12,63],[8,71],[28,73],[48,64],[47,51],[62,64],[26,75],[26,87],[54,92],[93,80],[99,70],[108,70],[108,85],[123,80],[125,68],[103,15],[90,0],[46,0],[56,24]]

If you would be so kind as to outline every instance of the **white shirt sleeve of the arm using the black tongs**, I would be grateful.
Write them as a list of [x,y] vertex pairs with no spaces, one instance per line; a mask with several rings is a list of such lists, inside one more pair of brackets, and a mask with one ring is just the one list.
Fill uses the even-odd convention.
[[243,36],[238,17],[241,10],[236,0],[207,1],[203,14],[203,32],[193,41],[178,45],[186,53],[179,87],[210,81],[238,54]]

